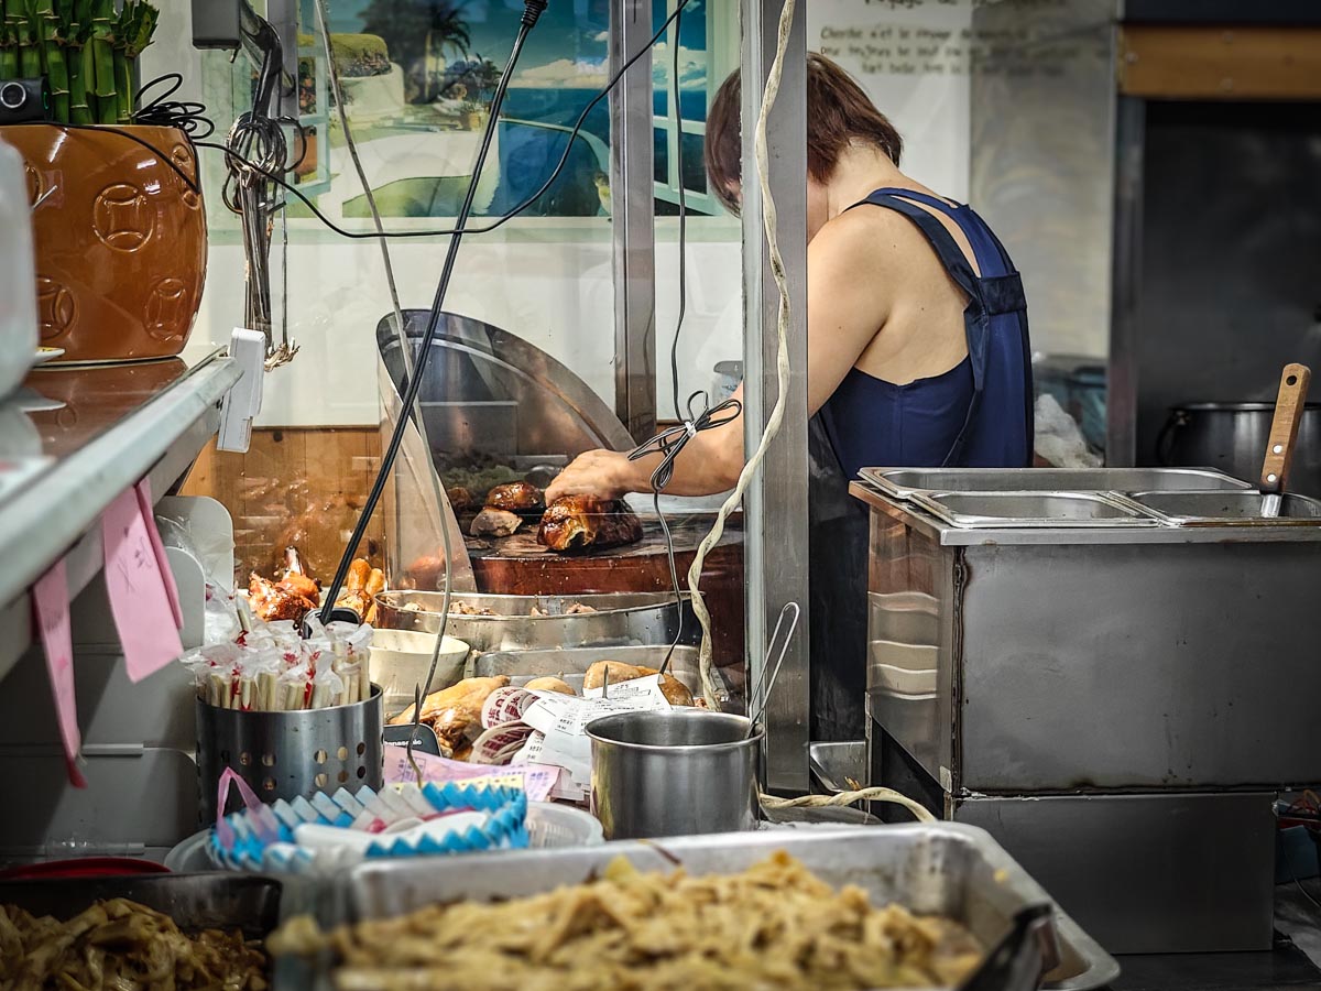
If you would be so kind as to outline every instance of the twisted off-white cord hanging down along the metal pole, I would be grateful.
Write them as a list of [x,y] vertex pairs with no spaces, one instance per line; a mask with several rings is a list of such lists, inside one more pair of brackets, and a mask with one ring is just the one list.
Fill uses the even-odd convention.
[[766,123],[770,118],[771,108],[775,106],[775,98],[779,95],[779,79],[785,71],[785,55],[789,52],[789,34],[794,25],[795,7],[797,0],[785,0],[785,5],[779,11],[779,29],[775,37],[775,58],[771,61],[770,71],[766,74],[766,89],[761,102],[761,112],[757,115],[756,131],[757,182],[761,186],[761,222],[766,234],[766,248],[770,255],[770,271],[775,279],[775,288],[779,291],[779,312],[775,326],[778,338],[775,371],[779,394],[775,396],[775,406],[771,408],[770,416],[766,418],[766,429],[761,435],[761,441],[757,444],[757,449],[753,452],[752,457],[748,459],[742,472],[738,473],[738,484],[729,494],[729,498],[727,498],[724,505],[720,507],[720,513],[716,515],[716,522],[711,527],[711,532],[708,532],[697,546],[697,552],[692,559],[692,567],[688,568],[688,589],[692,592],[692,610],[697,616],[697,622],[701,624],[701,649],[697,654],[701,671],[701,694],[705,696],[707,704],[712,708],[719,708],[719,702],[716,698],[716,682],[713,675],[715,666],[712,663],[711,612],[707,609],[707,603],[697,588],[701,579],[701,566],[705,563],[707,554],[724,535],[725,519],[729,518],[729,514],[733,513],[742,501],[744,492],[746,492],[748,485],[757,473],[757,469],[761,468],[761,462],[766,457],[766,451],[770,448],[770,443],[779,433],[779,427],[785,420],[785,406],[789,400],[789,280],[785,275],[785,259],[779,254],[779,239],[775,234],[777,214],[775,200],[770,194],[770,156],[766,148]]

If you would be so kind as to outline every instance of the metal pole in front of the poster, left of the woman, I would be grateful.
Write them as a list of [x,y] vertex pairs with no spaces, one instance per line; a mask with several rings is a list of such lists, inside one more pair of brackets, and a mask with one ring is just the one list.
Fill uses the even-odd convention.
[[[610,0],[612,73],[651,40],[651,0]],[[655,180],[651,59],[610,92],[614,408],[642,443],[655,433]]]

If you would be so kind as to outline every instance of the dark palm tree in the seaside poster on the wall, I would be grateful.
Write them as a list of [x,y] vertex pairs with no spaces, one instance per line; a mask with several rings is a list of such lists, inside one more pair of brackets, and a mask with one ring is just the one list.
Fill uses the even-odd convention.
[[386,40],[390,61],[403,66],[412,103],[435,98],[444,52],[466,55],[472,44],[462,0],[371,0],[362,29]]

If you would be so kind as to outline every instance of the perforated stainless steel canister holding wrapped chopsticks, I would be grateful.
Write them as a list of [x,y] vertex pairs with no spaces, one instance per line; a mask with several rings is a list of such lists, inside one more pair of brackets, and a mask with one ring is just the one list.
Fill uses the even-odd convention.
[[198,699],[197,777],[203,825],[215,822],[217,788],[226,768],[267,803],[341,788],[379,789],[384,778],[379,686],[371,686],[366,702],[303,712],[242,712]]

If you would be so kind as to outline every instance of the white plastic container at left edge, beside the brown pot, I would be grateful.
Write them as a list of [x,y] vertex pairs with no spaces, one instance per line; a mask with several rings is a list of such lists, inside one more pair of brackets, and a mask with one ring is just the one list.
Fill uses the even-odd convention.
[[0,399],[28,374],[38,340],[28,174],[22,156],[0,141]]

